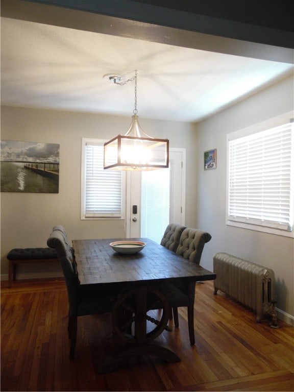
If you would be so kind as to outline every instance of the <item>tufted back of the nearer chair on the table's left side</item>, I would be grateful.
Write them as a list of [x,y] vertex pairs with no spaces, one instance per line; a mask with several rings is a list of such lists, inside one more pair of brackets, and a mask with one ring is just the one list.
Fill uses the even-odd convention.
[[64,234],[60,230],[53,230],[47,239],[47,245],[56,250],[61,263],[63,276],[66,283],[69,315],[77,315],[80,302],[79,277],[76,261],[68,243],[65,242]]

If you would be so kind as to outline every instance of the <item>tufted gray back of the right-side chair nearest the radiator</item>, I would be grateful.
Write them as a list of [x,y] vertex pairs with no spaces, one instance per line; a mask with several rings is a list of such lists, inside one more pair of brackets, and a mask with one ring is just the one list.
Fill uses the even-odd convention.
[[211,235],[205,231],[186,228],[182,232],[176,253],[189,261],[199,264],[204,245],[210,239]]

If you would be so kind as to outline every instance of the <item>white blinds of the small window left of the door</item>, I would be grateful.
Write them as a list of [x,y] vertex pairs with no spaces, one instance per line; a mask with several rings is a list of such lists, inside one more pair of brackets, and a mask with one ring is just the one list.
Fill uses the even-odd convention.
[[81,219],[124,218],[124,176],[104,170],[103,144],[82,139]]

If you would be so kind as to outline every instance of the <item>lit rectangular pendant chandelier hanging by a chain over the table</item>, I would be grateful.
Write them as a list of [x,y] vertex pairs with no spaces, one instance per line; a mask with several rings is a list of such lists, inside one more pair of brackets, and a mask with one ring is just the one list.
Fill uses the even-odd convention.
[[130,128],[104,143],[104,169],[155,170],[168,167],[168,140],[156,139],[143,132],[137,116],[137,70],[135,76],[122,81],[121,76],[105,75],[109,81],[124,85],[135,81],[135,109]]

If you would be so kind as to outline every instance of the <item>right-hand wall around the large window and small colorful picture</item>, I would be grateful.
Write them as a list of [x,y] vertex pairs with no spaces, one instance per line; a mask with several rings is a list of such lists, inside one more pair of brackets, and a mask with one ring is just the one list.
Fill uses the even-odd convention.
[[[226,252],[272,268],[276,277],[277,308],[294,318],[294,240],[279,235],[226,226],[226,135],[293,111],[293,77],[266,88],[247,100],[202,121],[198,130],[198,226],[207,230],[201,265],[213,268],[213,255]],[[217,149],[217,167],[203,170],[203,152]]]

